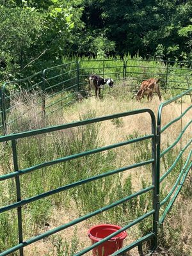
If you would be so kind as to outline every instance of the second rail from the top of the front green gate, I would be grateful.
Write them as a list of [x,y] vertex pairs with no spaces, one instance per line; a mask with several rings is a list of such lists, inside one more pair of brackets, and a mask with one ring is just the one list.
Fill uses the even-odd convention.
[[[138,141],[148,140],[150,138],[154,138],[154,135],[143,136],[143,137],[140,137],[140,138],[135,138],[135,139],[132,139],[132,140],[121,142],[121,143],[115,143],[115,144],[108,145],[108,146],[105,146],[105,147],[95,148],[94,150],[88,150],[88,151],[77,153],[77,154],[74,154],[74,155],[61,157],[61,158],[58,158],[58,159],[55,159],[55,160],[52,160],[52,161],[44,162],[44,163],[41,163],[41,164],[36,164],[35,166],[31,166],[31,167],[25,168],[23,170],[19,170],[18,174],[22,175],[24,173],[33,172],[33,171],[38,170],[40,168],[44,168],[44,167],[51,166],[51,165],[54,165],[54,164],[63,163],[63,162],[66,162],[66,161],[69,161],[69,160],[72,160],[72,159],[77,159],[77,158],[83,157],[83,156],[90,156],[92,154],[97,154],[99,152],[104,152],[104,151],[109,150],[109,149],[122,147],[122,146],[129,145],[131,143],[135,143],[135,142],[138,142]],[[10,175],[12,175],[12,173],[10,173]],[[2,178],[0,176],[0,180],[1,179]]]

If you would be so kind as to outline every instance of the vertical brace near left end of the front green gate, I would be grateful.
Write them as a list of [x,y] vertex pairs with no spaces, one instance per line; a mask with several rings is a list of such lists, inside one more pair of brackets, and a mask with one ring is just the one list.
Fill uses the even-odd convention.
[[[14,172],[19,171],[18,160],[17,160],[17,147],[16,141],[12,140],[12,153],[13,153],[13,166]],[[16,189],[17,189],[17,202],[21,200],[21,193],[20,193],[20,179],[19,175],[15,177]],[[21,206],[17,207],[17,220],[18,220],[18,230],[19,230],[19,243],[23,243],[23,236],[22,236],[22,211]],[[19,249],[20,256],[24,255],[23,248]]]

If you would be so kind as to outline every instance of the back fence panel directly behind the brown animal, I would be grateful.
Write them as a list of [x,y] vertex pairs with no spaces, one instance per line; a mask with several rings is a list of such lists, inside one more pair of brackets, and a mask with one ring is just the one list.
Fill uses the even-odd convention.
[[125,79],[143,81],[148,77],[157,77],[161,80],[161,87],[164,90],[189,89],[189,84],[191,84],[190,76],[190,62],[163,60],[125,61]]

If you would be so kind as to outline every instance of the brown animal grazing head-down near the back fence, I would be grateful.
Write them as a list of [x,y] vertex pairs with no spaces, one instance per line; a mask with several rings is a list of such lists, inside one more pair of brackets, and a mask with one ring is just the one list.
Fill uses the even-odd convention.
[[140,90],[136,94],[136,99],[141,100],[144,95],[147,95],[147,100],[152,100],[153,93],[157,93],[159,100],[161,101],[161,93],[159,90],[159,79],[150,78],[141,83]]

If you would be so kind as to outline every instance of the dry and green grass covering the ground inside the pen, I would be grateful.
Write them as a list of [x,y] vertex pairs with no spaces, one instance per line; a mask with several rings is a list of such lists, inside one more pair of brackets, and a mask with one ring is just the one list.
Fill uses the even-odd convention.
[[[22,115],[22,118],[8,127],[8,131],[26,131],[38,129],[51,125],[65,124],[76,120],[84,120],[95,116],[110,115],[123,111],[130,111],[140,108],[150,108],[157,116],[159,99],[155,96],[152,102],[143,99],[142,102],[136,102],[132,99],[130,86],[128,82],[116,83],[112,89],[102,92],[102,99],[96,100],[94,97],[83,99],[76,104],[56,111],[47,118],[40,118],[36,108],[38,96],[29,97],[27,102],[17,101],[17,113],[24,113],[26,108],[29,111]],[[171,93],[162,93],[163,100],[169,99]],[[14,103],[15,104],[15,103]],[[173,102],[163,111],[163,124],[166,124],[176,116],[180,115],[182,109],[186,109],[191,104],[189,97],[182,101]],[[18,114],[19,113],[19,114]],[[14,113],[13,113],[14,114]],[[182,118],[182,126],[191,120],[190,113]],[[175,123],[168,132],[162,136],[162,149],[173,143],[180,133],[181,123]],[[111,143],[118,143],[130,138],[136,138],[145,134],[150,134],[150,116],[141,114],[125,118],[108,120],[100,124],[86,125],[75,129],[52,132],[41,136],[20,139],[17,143],[19,167],[28,166],[49,161],[70,154],[76,154],[85,150],[90,150]],[[182,145],[191,138],[191,130],[185,132]],[[161,175],[170,167],[178,155],[180,147],[171,150],[167,157],[162,159]],[[1,144],[0,174],[12,172],[12,152],[10,144]],[[95,154],[89,157],[83,157],[69,161],[67,163],[56,164],[23,175],[20,179],[22,188],[22,198],[28,198],[50,189],[58,188],[65,184],[79,179],[87,178],[95,174],[113,170],[128,164],[145,161],[151,156],[150,140],[127,145],[108,152]],[[182,163],[175,166],[174,171],[161,184],[161,199],[170,191],[173,183],[177,179]],[[135,191],[145,188],[152,184],[151,166],[142,166],[110,176],[106,179],[97,180],[89,184],[84,184],[78,188],[49,196],[45,200],[38,200],[32,204],[23,207],[23,229],[24,239],[41,234],[45,230],[52,229],[63,223],[79,218],[83,214],[103,207],[106,204],[115,202],[123,196],[130,195]],[[169,256],[189,256],[192,255],[191,247],[191,174],[189,174],[184,188],[177,198],[174,207],[168,214],[164,222],[164,228],[161,230],[159,250],[156,255]],[[1,184],[1,205],[15,202],[15,182],[8,180]],[[124,226],[131,220],[134,220],[145,211],[152,209],[151,193],[144,194],[139,198],[131,200],[126,204],[115,207],[107,212],[99,214],[88,221],[83,221],[75,227],[68,228],[60,233],[47,237],[35,244],[24,248],[27,256],[68,256],[74,255],[82,248],[90,245],[87,236],[87,230],[92,225],[99,223],[113,223]],[[0,215],[0,251],[13,246],[17,243],[17,211],[12,210]],[[138,237],[147,234],[152,225],[152,219],[141,222],[127,230],[127,239],[124,244],[129,244]],[[147,244],[146,253],[147,253]],[[13,255],[19,255],[15,253]],[[91,255],[88,253],[87,255]],[[136,248],[127,253],[127,255],[138,255]]]

